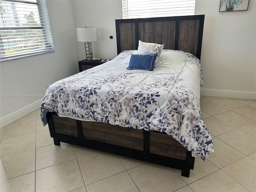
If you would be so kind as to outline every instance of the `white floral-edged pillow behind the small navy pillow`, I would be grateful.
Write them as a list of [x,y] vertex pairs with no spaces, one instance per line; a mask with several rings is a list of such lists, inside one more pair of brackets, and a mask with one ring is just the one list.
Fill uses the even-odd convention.
[[164,44],[146,43],[139,40],[138,52],[136,54],[156,54],[154,68],[157,67],[159,56],[164,48]]

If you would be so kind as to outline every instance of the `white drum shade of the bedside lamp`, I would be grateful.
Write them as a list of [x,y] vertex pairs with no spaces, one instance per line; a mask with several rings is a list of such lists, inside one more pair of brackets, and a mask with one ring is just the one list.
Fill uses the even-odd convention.
[[78,41],[91,42],[97,40],[95,27],[77,27],[76,34]]

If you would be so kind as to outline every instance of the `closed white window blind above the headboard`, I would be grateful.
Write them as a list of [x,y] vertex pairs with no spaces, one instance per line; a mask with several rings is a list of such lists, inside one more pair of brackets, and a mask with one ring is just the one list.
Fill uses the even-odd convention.
[[195,0],[122,0],[123,19],[194,15]]

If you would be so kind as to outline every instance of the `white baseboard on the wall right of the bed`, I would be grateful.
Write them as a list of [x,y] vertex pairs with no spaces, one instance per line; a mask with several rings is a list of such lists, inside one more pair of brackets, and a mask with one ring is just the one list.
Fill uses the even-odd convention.
[[229,97],[229,98],[240,98],[240,99],[256,100],[256,92],[229,91],[229,90],[216,90],[216,89],[201,89],[201,95],[203,95],[203,96]]

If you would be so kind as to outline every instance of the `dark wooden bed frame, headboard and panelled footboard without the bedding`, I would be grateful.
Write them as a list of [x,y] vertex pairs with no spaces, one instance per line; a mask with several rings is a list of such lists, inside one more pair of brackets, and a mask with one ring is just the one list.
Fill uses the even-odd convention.
[[[200,59],[204,15],[116,20],[118,54],[136,50],[138,40],[164,44],[164,49],[190,52]],[[60,142],[93,148],[182,170],[189,177],[194,157],[165,133],[80,121],[47,113],[50,135]]]

